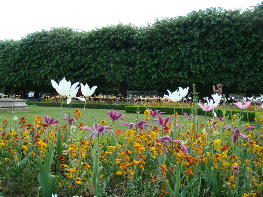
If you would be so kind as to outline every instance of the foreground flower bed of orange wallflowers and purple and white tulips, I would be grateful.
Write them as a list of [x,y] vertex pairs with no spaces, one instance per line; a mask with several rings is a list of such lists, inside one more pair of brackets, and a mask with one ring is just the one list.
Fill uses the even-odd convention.
[[[63,80],[62,84],[68,83]],[[183,94],[169,92],[174,112]],[[207,115],[217,102],[207,101],[209,106],[200,107]],[[227,115],[223,110],[220,117],[218,109],[213,119],[198,122],[201,108],[198,113],[196,108],[194,103],[186,109],[191,115],[185,114],[183,123],[177,113],[164,120],[161,111],[137,108],[136,113],[141,110],[145,118],[122,123],[127,130],[118,129],[117,120],[125,117],[114,110],[108,112],[109,120],[98,120],[93,127],[80,120],[80,110],[61,121],[60,115],[58,119],[35,117],[33,124],[24,118],[4,119],[2,195],[259,196],[262,117],[252,126],[240,113]],[[232,120],[229,125],[224,122],[227,117]],[[153,122],[158,126],[152,126]],[[85,130],[92,132],[88,138]]]

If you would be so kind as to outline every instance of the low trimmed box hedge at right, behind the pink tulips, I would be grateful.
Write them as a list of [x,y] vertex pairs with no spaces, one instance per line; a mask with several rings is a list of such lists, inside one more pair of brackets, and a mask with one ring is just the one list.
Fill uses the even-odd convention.
[[[139,111],[141,111],[140,113],[143,113],[146,110],[147,106],[139,106]],[[155,110],[160,110],[160,111],[164,111],[165,114],[173,114],[174,113],[174,107],[152,107],[149,106],[149,109],[155,111]],[[135,111],[137,111],[138,107],[137,106],[126,106],[125,111],[126,113],[136,113]],[[177,114],[181,115],[182,112],[182,108],[175,108],[175,111],[177,112]],[[183,112],[187,113],[188,115],[191,113],[191,108],[183,108]],[[197,113],[198,115],[206,115],[206,112],[203,111],[201,108],[197,108]],[[208,116],[212,116],[212,111],[209,111],[207,113]],[[239,110],[233,110],[232,111],[232,115],[235,115],[237,113],[240,113]],[[242,111],[241,111],[242,113]],[[255,113],[257,113],[257,115],[255,115]],[[229,110],[226,110],[226,116],[230,114]],[[246,114],[246,110],[243,110],[243,115],[244,115],[244,120],[247,120],[247,114]],[[217,109],[217,116],[218,117],[223,117],[223,112],[221,111],[221,109]],[[248,119],[249,121],[254,121],[254,118],[257,117],[257,119],[260,119],[260,116],[263,116],[263,112],[259,112],[259,111],[248,111]],[[229,117],[230,118],[230,117]]]

